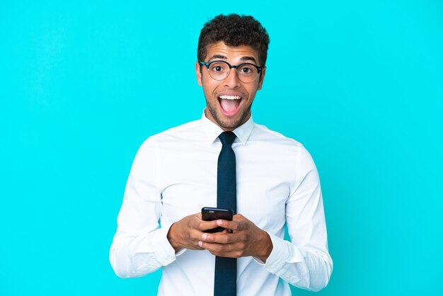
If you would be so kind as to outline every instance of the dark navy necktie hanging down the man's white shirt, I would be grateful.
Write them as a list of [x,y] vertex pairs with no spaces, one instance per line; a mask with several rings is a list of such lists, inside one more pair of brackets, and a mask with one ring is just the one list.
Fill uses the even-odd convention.
[[[236,135],[222,132],[222,151],[217,165],[217,207],[237,212],[236,154],[231,147]],[[237,259],[215,257],[214,296],[235,296],[237,291]]]

